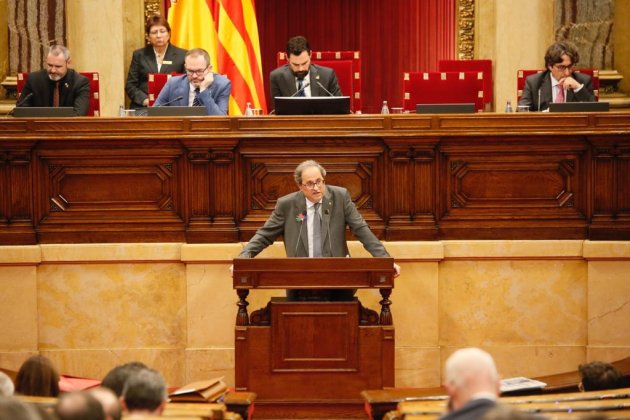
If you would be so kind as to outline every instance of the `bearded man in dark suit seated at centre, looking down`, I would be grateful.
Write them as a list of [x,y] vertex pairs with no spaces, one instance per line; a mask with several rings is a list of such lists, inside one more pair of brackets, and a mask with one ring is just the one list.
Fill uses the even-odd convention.
[[303,36],[289,39],[287,61],[271,72],[271,97],[341,96],[335,71],[311,63],[311,47]]

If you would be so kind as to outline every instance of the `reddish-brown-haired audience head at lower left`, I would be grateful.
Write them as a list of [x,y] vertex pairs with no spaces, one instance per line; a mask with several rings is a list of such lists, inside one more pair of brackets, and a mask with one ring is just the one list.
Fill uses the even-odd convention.
[[15,378],[15,392],[35,397],[59,395],[59,374],[50,359],[31,356],[20,367]]

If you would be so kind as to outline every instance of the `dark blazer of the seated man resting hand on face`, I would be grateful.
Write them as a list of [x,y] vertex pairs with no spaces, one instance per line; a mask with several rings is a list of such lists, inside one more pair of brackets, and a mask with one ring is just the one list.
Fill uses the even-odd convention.
[[[593,80],[589,75],[582,73],[571,73],[571,77],[584,86],[579,92],[569,89],[567,91],[566,102],[592,102],[595,100],[593,91]],[[538,92],[540,91],[540,108],[538,107]],[[551,92],[551,72],[545,70],[540,73],[531,74],[525,79],[523,95],[521,95],[519,105],[529,106],[530,111],[544,111],[549,108],[553,101]]]

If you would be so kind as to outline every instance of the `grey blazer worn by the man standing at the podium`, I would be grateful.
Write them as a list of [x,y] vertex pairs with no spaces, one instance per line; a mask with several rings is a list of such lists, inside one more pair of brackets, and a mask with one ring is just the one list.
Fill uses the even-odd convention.
[[[350,227],[352,233],[372,256],[389,257],[381,241],[374,236],[350,199],[347,189],[327,185],[321,212],[324,257],[349,255],[346,226]],[[288,257],[308,257],[306,221],[299,217],[303,214],[306,214],[306,198],[301,191],[280,197],[265,225],[258,229],[239,257],[255,257],[280,235],[284,235],[284,248]]]

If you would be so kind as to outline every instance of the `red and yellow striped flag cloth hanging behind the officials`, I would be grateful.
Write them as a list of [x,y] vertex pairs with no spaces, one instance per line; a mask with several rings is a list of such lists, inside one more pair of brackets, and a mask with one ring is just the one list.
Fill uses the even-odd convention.
[[232,81],[230,115],[247,103],[267,112],[254,0],[171,0],[171,41],[203,48],[212,67]]

